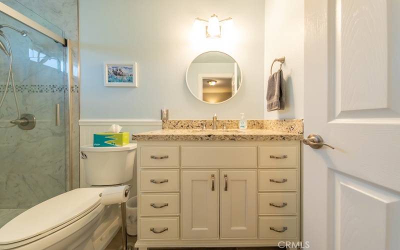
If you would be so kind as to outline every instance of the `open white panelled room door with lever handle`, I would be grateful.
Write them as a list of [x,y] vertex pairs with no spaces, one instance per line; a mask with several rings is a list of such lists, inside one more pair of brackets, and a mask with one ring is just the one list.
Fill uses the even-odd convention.
[[400,249],[400,1],[305,0],[303,241]]

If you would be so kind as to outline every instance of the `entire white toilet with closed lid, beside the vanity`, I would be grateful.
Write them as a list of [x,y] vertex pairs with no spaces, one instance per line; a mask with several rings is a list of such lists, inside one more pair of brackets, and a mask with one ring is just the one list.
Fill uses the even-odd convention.
[[43,201],[0,228],[0,249],[103,249],[120,227],[118,205],[100,204],[107,186],[133,176],[136,144],[81,146],[87,188]]

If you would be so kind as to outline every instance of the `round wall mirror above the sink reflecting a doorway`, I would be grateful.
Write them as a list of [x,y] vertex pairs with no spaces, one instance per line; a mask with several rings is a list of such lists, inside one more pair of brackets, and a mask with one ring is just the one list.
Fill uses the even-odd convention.
[[232,98],[241,86],[241,71],[228,54],[208,51],[198,55],[186,71],[190,92],[207,103],[221,103]]

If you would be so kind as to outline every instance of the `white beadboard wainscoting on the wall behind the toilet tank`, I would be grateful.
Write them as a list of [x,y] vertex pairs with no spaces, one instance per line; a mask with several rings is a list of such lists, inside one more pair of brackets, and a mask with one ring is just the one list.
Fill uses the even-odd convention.
[[[139,133],[156,129],[161,129],[161,120],[139,120],[139,119],[81,119],[79,120],[79,144],[87,145],[93,143],[93,133],[105,132],[112,124],[122,126],[124,132]],[[130,140],[130,136],[129,136]],[[134,173],[136,173],[136,161]],[[131,180],[132,190],[131,196],[136,193],[136,175]],[[85,181],[83,160],[80,159],[80,187],[89,186]]]

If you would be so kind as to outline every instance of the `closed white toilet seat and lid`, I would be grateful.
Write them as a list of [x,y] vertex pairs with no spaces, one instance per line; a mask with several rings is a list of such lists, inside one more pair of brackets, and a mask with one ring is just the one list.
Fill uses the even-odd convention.
[[77,188],[29,208],[0,228],[0,249],[27,244],[84,219],[102,208],[99,193],[104,188]]

